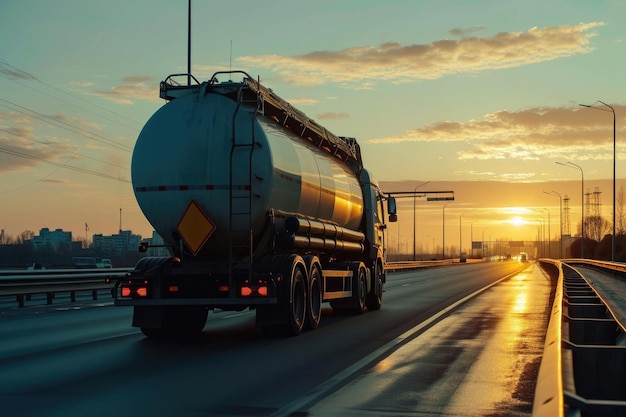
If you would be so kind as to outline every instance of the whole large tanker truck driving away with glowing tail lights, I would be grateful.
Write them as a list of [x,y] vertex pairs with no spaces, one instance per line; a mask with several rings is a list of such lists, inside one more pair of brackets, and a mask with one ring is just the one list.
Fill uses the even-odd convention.
[[243,71],[201,83],[170,75],[160,97],[131,175],[170,255],[141,258],[115,282],[114,304],[133,307],[133,326],[178,338],[201,332],[209,310],[250,309],[261,330],[297,335],[318,327],[325,302],[333,312],[381,308],[395,199],[354,138]]

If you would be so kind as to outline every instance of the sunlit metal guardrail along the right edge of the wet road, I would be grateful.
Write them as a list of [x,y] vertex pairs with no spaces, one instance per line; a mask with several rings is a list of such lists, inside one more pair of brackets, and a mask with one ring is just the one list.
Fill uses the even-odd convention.
[[[540,260],[556,281],[533,417],[626,415],[626,331],[573,265],[626,272],[614,262]],[[619,279],[619,278],[616,278]]]

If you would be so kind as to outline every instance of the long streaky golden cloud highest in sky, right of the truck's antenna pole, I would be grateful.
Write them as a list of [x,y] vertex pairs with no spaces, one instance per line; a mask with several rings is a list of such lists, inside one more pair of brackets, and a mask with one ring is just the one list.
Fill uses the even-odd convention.
[[[247,67],[267,68],[286,82],[349,83],[371,88],[373,81],[409,82],[444,76],[519,67],[593,50],[592,29],[603,22],[580,23],[527,32],[502,32],[491,37],[438,40],[430,44],[355,46],[340,51],[316,51],[304,55],[261,55],[237,58]],[[455,35],[470,30],[453,29]]]

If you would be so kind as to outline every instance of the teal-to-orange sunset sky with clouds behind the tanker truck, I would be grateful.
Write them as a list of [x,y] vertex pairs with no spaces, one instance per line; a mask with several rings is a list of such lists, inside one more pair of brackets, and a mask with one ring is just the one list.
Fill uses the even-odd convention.
[[[446,239],[459,239],[460,216],[495,234],[492,222],[511,211],[536,225],[544,208],[556,235],[559,199],[542,191],[570,196],[575,229],[581,171],[556,162],[579,165],[611,216],[613,113],[579,104],[615,110],[619,187],[625,1],[203,0],[192,10],[197,79],[229,68],[260,77],[330,131],[356,137],[389,190],[452,187]],[[3,0],[5,234],[48,227],[81,238],[86,223],[89,236],[112,234],[121,210],[123,229],[150,236],[130,158],[163,105],[158,83],[186,65],[185,0]],[[443,207],[418,207],[420,239],[440,245]],[[412,236],[411,209],[401,240]]]

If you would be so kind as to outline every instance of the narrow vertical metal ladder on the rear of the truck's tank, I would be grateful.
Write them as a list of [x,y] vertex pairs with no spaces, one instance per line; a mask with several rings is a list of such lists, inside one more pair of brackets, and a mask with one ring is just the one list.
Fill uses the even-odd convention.
[[[228,274],[230,296],[236,297],[237,285],[234,279],[246,277],[252,279],[252,261],[254,252],[254,230],[252,227],[252,155],[257,142],[254,137],[256,114],[262,112],[262,99],[246,100],[239,92],[237,109],[233,114],[233,131],[230,151],[230,212],[228,234]],[[254,106],[251,112],[248,106]],[[244,111],[250,116],[250,127],[238,132],[237,115]],[[238,163],[245,161],[245,163]]]

